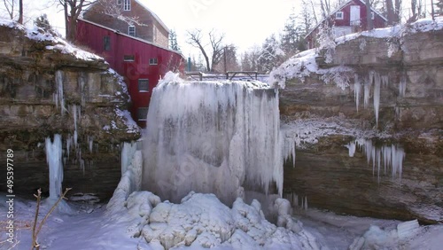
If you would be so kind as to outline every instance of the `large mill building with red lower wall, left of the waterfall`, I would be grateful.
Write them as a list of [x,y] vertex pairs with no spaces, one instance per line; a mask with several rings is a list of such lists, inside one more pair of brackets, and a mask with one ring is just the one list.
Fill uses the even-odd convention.
[[[92,4],[77,23],[77,43],[105,58],[124,77],[132,99],[130,113],[141,127],[152,90],[168,71],[183,72],[185,59],[180,52],[167,49],[169,30],[151,10],[137,0],[105,0]],[[122,16],[138,17],[131,23],[106,13],[113,4]]]

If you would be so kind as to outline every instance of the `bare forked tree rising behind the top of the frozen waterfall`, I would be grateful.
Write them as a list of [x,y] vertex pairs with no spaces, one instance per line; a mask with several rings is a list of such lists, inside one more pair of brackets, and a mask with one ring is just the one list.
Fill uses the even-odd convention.
[[214,66],[217,65],[223,56],[223,40],[224,34],[216,34],[216,32],[211,30],[209,32],[209,44],[211,46],[212,54],[209,55],[208,51],[206,51],[206,44],[203,41],[203,35],[201,29],[193,29],[188,30],[188,41],[190,45],[201,52],[206,61],[206,71],[212,72],[214,70]]

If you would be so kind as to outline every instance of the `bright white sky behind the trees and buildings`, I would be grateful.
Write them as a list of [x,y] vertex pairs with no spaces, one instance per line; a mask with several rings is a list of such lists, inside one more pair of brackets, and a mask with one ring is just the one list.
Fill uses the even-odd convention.
[[[226,43],[234,43],[237,51],[246,51],[265,38],[279,34],[284,28],[292,7],[299,0],[139,0],[156,13],[167,27],[177,33],[177,41],[184,56],[198,51],[186,43],[186,31],[201,28],[215,29],[225,34]],[[25,0],[25,14],[38,16],[45,12],[53,27],[62,30],[63,12],[57,0]],[[4,8],[0,4],[0,11]]]

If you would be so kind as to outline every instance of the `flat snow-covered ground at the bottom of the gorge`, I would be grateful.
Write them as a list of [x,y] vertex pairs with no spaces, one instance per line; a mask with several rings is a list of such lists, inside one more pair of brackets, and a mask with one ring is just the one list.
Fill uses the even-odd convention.
[[[0,229],[0,249],[30,249],[35,201],[15,199],[14,237],[17,241],[12,245],[5,241],[7,238],[4,229],[6,218],[5,194],[2,193],[0,197],[0,218],[2,218],[0,221],[2,224]],[[69,202],[69,205],[74,208],[74,215],[61,215],[56,212],[50,215],[47,223],[43,226],[43,230],[39,235],[41,249],[163,249],[159,242],[148,245],[144,237],[131,237],[134,229],[131,228],[128,217],[121,217],[120,219],[110,217],[103,204],[88,204],[78,200],[76,202]],[[48,207],[43,205],[39,221],[42,220],[47,209]],[[212,216],[213,220],[219,220],[222,217],[221,214],[213,214]],[[318,244],[323,246],[321,249],[348,249],[353,244],[354,239],[361,237],[365,232],[367,238],[372,237],[371,245],[362,249],[439,250],[443,246],[443,225],[421,226],[413,236],[399,242],[392,241],[392,238],[389,241],[386,238],[389,235],[388,231],[396,229],[397,224],[400,223],[398,221],[335,215],[315,209],[307,209],[307,211],[296,216],[303,223],[303,229],[312,234]],[[384,229],[384,231],[380,233],[379,230],[372,229],[369,231],[372,233],[372,236],[370,236],[370,233],[367,231],[371,225]],[[170,228],[173,229],[174,226]],[[379,234],[374,235],[375,231],[378,231]],[[260,249],[251,246],[251,242],[241,241],[244,239],[238,237],[237,245],[230,244],[229,246],[229,244],[225,244],[225,246],[217,246],[214,249]],[[273,243],[275,245],[271,243],[265,249],[307,249],[303,247],[283,248],[282,245],[278,245],[278,243],[282,242]],[[376,243],[378,245],[375,245]],[[189,248],[183,246],[182,248],[177,247],[175,249],[202,248],[200,246],[190,246]]]

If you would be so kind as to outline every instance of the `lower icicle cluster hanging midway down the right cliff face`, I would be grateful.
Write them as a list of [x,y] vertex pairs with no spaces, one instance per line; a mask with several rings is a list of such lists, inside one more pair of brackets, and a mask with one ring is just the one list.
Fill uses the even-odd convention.
[[382,145],[377,147],[372,144],[368,139],[357,139],[346,145],[349,150],[349,156],[354,157],[354,153],[357,148],[361,149],[366,155],[368,164],[372,161],[372,172],[375,175],[375,169],[377,165],[377,177],[380,178],[380,172],[383,161],[383,172],[386,175],[389,168],[391,168],[392,178],[399,176],[401,180],[401,172],[403,170],[403,159],[405,158],[405,152],[403,148],[398,145]]

